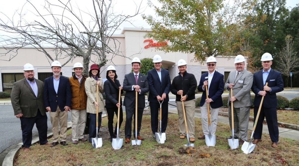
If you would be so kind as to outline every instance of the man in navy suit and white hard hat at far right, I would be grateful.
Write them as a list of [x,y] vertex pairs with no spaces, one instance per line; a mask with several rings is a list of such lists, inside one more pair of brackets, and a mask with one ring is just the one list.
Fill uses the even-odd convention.
[[[277,148],[278,143],[278,124],[277,124],[277,97],[276,93],[283,91],[283,79],[281,73],[271,69],[272,55],[266,52],[262,55],[261,61],[263,69],[255,72],[253,75],[253,84],[251,90],[254,92],[254,120],[257,117],[257,111],[264,96],[263,105],[260,111],[257,126],[255,128],[252,143],[262,141],[263,121],[266,117],[269,135],[272,147]],[[268,83],[268,86],[265,84]]]

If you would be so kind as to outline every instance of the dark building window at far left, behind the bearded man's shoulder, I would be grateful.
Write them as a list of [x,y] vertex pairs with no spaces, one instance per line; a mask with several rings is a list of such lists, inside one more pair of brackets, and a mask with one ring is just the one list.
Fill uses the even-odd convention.
[[13,83],[24,78],[24,73],[2,73],[2,91],[11,93]]

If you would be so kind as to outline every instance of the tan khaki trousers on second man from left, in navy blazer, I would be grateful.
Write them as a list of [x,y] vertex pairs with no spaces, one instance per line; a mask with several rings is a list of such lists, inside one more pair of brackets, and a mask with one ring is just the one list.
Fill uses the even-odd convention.
[[58,142],[58,128],[60,125],[60,142],[66,141],[66,131],[68,130],[68,113],[60,111],[57,106],[56,112],[50,112],[52,124],[53,142]]

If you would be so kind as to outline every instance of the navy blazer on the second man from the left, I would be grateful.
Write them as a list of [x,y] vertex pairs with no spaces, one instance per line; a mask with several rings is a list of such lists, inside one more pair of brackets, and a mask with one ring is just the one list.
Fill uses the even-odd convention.
[[61,111],[64,111],[65,106],[71,107],[71,86],[67,77],[60,76],[58,91],[54,89],[54,77],[51,76],[45,79],[44,85],[44,100],[45,107],[50,107],[51,112],[56,112],[57,105]]

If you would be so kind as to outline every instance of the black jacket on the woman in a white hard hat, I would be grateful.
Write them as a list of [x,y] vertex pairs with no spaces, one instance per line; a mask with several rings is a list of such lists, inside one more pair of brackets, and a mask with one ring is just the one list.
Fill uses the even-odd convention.
[[[110,80],[109,80],[110,79]],[[118,95],[119,95],[119,88],[120,83],[119,80],[114,79],[115,83],[108,78],[104,82],[104,91],[106,94],[106,108],[116,108],[116,104],[118,103]],[[123,89],[120,91],[120,94],[123,94]],[[120,97],[120,105],[123,105],[123,102]]]

